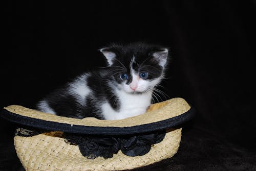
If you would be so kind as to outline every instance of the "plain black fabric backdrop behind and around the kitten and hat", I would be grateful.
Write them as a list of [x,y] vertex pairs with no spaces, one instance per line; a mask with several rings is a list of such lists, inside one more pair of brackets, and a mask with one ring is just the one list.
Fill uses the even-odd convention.
[[[197,116],[178,153],[137,170],[256,170],[255,1],[6,2],[1,108],[33,108],[46,93],[105,65],[98,49],[146,41],[170,47],[160,88]],[[0,119],[0,170],[17,170],[15,124]]]

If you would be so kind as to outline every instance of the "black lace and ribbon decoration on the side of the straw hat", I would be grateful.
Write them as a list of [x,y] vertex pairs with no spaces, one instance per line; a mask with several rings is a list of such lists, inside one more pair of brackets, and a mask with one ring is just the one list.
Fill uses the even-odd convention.
[[64,134],[66,142],[78,145],[81,154],[89,159],[99,156],[111,158],[119,150],[127,156],[142,156],[150,151],[152,144],[161,142],[164,136],[165,131],[125,136]]

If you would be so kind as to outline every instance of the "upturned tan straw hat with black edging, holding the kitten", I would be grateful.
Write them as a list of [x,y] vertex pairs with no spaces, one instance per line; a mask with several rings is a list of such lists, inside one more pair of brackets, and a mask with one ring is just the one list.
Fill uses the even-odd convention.
[[5,107],[1,116],[24,126],[14,145],[26,170],[126,170],[174,156],[178,126],[194,113],[184,99],[174,98],[121,120],[68,118],[17,105]]

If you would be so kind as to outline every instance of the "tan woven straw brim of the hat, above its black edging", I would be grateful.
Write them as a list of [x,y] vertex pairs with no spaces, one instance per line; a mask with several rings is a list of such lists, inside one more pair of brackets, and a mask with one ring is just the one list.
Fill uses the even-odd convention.
[[70,117],[57,116],[37,110],[25,108],[23,106],[11,105],[5,107],[9,112],[31,118],[54,121],[70,125],[93,126],[93,127],[132,127],[144,124],[156,123],[181,115],[190,109],[190,106],[182,98],[174,98],[161,103],[153,104],[146,113],[120,120],[99,120],[93,117],[76,119]]

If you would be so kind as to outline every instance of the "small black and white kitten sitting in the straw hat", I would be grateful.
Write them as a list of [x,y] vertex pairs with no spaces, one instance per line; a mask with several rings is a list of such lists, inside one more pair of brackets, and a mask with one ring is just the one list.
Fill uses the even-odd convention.
[[164,77],[168,49],[134,43],[101,48],[109,66],[86,72],[53,91],[37,104],[60,116],[123,119],[142,114]]

